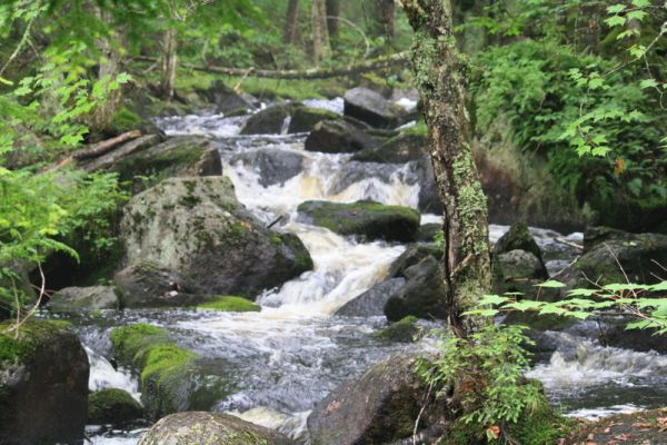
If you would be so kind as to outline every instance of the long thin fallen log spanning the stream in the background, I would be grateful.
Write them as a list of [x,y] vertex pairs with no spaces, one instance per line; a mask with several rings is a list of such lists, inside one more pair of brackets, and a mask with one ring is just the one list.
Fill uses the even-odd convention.
[[[156,62],[152,57],[136,57],[135,60],[145,62]],[[361,72],[375,71],[382,68],[394,67],[408,61],[408,52],[397,52],[391,56],[377,59],[365,60],[345,68],[312,68],[307,70],[260,70],[255,68],[226,68],[217,66],[198,66],[193,63],[180,63],[181,67],[196,71],[212,72],[225,76],[253,76],[267,79],[327,79],[331,77],[341,77],[358,75]]]

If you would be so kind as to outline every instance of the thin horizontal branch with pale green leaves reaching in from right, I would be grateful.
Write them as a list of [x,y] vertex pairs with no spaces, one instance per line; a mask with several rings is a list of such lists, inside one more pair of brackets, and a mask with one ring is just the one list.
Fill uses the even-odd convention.
[[[542,288],[563,288],[565,285],[549,280]],[[495,316],[508,312],[534,312],[539,315],[556,315],[586,319],[600,312],[613,315],[630,315],[636,318],[627,329],[655,329],[667,334],[667,281],[655,285],[611,284],[597,289],[573,289],[558,301],[518,298],[517,295],[486,295],[478,309],[470,315]],[[495,308],[489,308],[495,307]]]

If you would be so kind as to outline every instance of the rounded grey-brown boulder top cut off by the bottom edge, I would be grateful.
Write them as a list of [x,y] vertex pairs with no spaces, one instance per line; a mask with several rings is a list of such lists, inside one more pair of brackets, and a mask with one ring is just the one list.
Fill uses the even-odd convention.
[[178,413],[158,422],[139,445],[293,445],[290,438],[229,414]]

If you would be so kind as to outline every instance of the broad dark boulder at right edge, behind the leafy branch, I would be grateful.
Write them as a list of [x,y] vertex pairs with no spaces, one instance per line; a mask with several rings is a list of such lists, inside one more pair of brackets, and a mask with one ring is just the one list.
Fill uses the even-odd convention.
[[589,288],[588,279],[598,285],[655,284],[665,275],[660,265],[667,265],[666,235],[617,233],[598,241],[585,238],[584,244],[586,253],[559,277],[570,288]]

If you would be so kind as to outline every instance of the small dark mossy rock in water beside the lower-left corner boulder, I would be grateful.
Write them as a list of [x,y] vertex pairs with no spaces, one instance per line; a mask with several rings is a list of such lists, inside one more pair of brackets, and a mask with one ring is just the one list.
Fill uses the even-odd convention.
[[128,392],[104,388],[88,396],[88,423],[123,426],[143,416],[143,407]]

